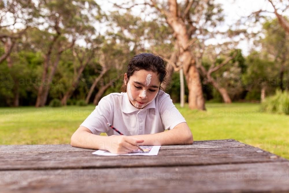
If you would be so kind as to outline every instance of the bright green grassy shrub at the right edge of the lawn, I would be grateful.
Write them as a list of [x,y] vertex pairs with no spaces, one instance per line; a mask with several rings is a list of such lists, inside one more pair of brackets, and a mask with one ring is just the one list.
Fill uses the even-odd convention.
[[274,96],[265,98],[261,103],[260,111],[289,115],[289,92],[276,90]]

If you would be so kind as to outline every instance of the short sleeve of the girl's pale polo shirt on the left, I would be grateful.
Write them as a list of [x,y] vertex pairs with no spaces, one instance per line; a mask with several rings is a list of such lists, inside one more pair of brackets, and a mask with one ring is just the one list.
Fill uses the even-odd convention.
[[106,123],[112,123],[113,109],[108,99],[102,98],[95,110],[84,120],[80,126],[88,128],[93,134],[107,133],[110,129]]

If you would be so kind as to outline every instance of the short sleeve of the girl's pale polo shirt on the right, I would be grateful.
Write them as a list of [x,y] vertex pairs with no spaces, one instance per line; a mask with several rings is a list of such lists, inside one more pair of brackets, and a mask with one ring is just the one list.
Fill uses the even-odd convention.
[[162,119],[162,125],[165,130],[173,129],[180,123],[186,122],[185,118],[177,110],[176,106],[173,104],[170,95],[165,96],[165,98],[159,103],[159,112]]

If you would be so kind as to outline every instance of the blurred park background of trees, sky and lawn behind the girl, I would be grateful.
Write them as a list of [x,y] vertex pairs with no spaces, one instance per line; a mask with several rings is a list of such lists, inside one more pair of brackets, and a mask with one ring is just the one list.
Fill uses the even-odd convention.
[[[129,60],[166,60],[194,140],[289,158],[289,21],[281,0],[0,1],[0,144],[63,144]],[[104,134],[102,134],[104,135]]]

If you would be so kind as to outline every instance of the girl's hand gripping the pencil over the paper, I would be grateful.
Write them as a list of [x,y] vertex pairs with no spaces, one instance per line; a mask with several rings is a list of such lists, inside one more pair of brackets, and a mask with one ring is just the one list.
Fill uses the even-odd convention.
[[106,150],[116,154],[129,153],[138,150],[138,143],[144,142],[143,139],[136,139],[132,136],[125,135],[112,135],[108,138],[110,143],[106,145]]

